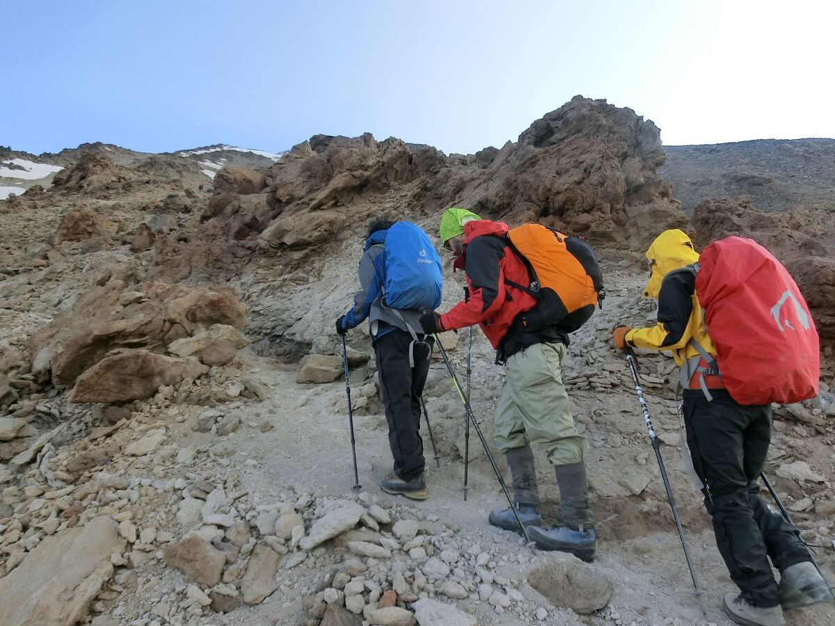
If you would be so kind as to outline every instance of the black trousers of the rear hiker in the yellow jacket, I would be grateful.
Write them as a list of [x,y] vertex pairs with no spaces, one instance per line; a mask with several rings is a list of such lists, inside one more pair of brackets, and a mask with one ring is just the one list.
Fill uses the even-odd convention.
[[797,528],[759,496],[772,406],[742,406],[725,390],[711,394],[708,402],[701,391],[685,391],[684,419],[716,546],[742,597],[754,606],[776,606],[780,594],[768,558],[782,572],[810,556]]

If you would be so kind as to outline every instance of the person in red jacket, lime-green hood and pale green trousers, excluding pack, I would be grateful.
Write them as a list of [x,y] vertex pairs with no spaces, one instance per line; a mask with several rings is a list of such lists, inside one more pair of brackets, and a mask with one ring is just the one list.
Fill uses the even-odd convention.
[[[508,233],[508,225],[481,220],[468,210],[453,207],[443,213],[443,247],[457,257],[453,268],[464,270],[468,295],[446,314],[424,313],[421,324],[427,334],[481,326],[498,351],[497,364],[504,363],[493,445],[507,457],[516,512],[539,548],[591,560],[596,534],[586,485],[585,438],[577,432],[560,373],[568,334],[549,325],[520,332],[522,325],[514,324],[534,310],[537,300],[522,287],[529,285],[531,276],[509,245]],[[531,444],[544,449],[554,466],[562,525],[542,528]],[[521,534],[510,508],[494,509],[488,522]]]

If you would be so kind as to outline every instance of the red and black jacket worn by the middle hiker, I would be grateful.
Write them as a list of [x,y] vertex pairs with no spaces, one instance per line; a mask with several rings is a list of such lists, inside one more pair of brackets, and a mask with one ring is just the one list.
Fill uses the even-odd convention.
[[536,305],[531,295],[504,284],[504,280],[530,282],[528,270],[507,245],[508,230],[508,225],[490,220],[464,225],[463,253],[453,268],[465,271],[469,297],[441,316],[445,331],[478,324],[496,349],[514,317]]

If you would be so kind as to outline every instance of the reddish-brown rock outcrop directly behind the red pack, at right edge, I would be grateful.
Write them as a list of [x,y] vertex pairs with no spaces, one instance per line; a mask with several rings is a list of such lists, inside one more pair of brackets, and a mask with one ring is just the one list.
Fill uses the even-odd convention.
[[750,237],[786,265],[806,298],[823,343],[835,344],[835,217],[826,207],[765,213],[747,198],[710,199],[693,212],[696,246]]

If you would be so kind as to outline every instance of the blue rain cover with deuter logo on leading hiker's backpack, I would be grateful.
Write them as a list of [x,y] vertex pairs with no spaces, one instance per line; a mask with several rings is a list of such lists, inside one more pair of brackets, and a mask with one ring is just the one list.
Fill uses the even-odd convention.
[[441,305],[441,257],[420,226],[397,222],[385,245],[386,305],[392,309],[437,309]]

